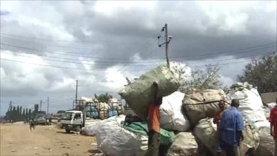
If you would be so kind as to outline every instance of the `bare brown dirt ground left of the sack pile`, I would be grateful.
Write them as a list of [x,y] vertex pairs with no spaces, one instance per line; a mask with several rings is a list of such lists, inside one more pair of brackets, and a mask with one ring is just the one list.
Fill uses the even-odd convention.
[[1,155],[99,155],[96,137],[66,134],[55,125],[1,124]]

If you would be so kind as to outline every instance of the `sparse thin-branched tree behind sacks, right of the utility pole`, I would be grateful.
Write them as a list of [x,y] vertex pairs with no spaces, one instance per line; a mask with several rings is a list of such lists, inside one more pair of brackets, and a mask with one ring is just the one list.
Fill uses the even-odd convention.
[[220,67],[212,64],[207,64],[205,70],[191,71],[190,77],[184,80],[180,90],[187,93],[190,89],[219,89],[222,86],[219,71]]

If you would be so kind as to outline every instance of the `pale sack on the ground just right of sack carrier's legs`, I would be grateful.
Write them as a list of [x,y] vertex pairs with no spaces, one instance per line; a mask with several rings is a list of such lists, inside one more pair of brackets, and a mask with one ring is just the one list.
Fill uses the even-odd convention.
[[179,132],[166,156],[197,156],[198,145],[192,132]]

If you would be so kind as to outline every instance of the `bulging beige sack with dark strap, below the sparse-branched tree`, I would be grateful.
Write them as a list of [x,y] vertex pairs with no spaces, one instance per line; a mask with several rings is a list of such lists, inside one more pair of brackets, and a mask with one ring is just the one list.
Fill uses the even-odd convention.
[[[200,119],[213,117],[220,110],[218,102],[226,101],[226,94],[222,89],[199,89],[185,95],[183,101],[184,112],[192,125]],[[225,107],[228,107],[225,105]]]

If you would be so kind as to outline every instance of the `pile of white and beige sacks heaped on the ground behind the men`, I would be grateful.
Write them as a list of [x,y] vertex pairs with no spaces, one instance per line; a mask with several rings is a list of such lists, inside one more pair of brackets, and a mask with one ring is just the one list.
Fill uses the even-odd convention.
[[[250,148],[256,156],[274,155],[274,140],[269,133],[262,100],[257,89],[247,83],[234,84],[228,94],[205,89],[193,90],[186,95],[173,92],[164,96],[160,107],[161,128],[177,135],[166,155],[202,155],[202,146],[209,150],[206,155],[215,155],[217,140],[213,115],[219,110],[218,101],[230,103],[233,98],[240,100],[239,110],[244,116],[244,141],[238,155],[246,155]],[[226,105],[226,109],[229,107]],[[113,116],[82,128],[82,134],[96,136],[98,149],[107,156],[145,155],[148,137],[125,130],[120,125],[124,120],[124,115]]]

